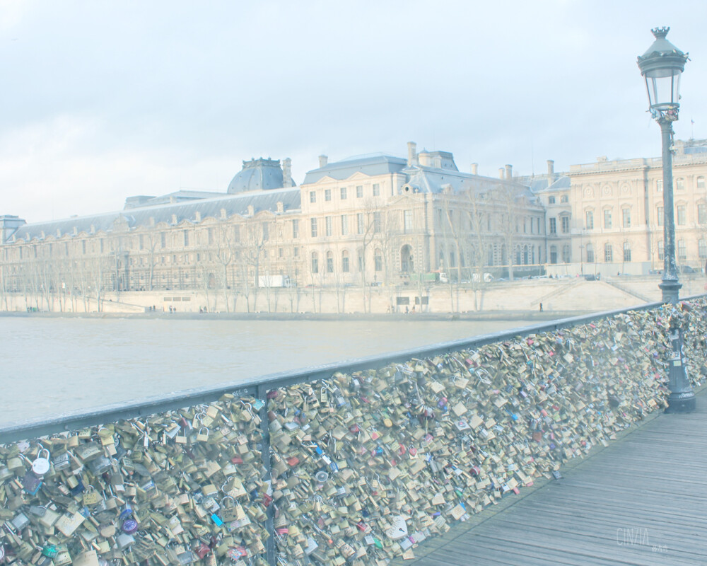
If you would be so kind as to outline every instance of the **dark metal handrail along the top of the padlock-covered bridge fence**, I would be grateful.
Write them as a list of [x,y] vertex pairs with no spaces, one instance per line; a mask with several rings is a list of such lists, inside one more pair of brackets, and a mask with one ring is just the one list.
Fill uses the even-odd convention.
[[[697,299],[703,296],[707,296],[707,294],[688,296],[681,300]],[[156,395],[136,401],[129,401],[127,403],[112,403],[97,408],[76,410],[48,419],[37,417],[35,419],[0,426],[0,444],[92,427],[107,422],[115,422],[117,420],[144,417],[158,412],[185,408],[201,403],[211,403],[221,398],[221,395],[225,393],[233,393],[237,396],[264,398],[267,391],[272,389],[308,381],[317,381],[319,379],[328,379],[336,372],[350,374],[355,371],[380,369],[390,364],[407,362],[412,358],[421,359],[457,352],[459,350],[475,350],[480,346],[493,342],[503,342],[513,337],[525,337],[531,334],[552,332],[561,330],[562,328],[591,323],[594,320],[609,318],[610,316],[616,316],[617,314],[623,314],[629,311],[647,311],[660,306],[662,306],[662,302],[658,301],[655,303],[631,306],[629,308],[603,311],[601,313],[560,318],[536,325],[501,330],[496,333],[462,338],[450,342],[439,342],[427,346],[411,348],[409,350],[375,354],[367,357],[348,359],[343,362],[305,367],[293,371],[280,371],[274,374],[256,376],[236,383],[219,383],[214,386],[191,388],[168,393],[166,395]]]

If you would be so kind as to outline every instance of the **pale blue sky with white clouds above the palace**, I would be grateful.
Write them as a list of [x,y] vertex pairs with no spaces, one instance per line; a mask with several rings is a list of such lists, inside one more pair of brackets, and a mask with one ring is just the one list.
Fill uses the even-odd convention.
[[[660,156],[636,57],[689,52],[679,139],[707,138],[707,3],[0,0],[0,215],[226,192],[242,161],[451,151],[496,176]],[[691,121],[694,120],[694,125]]]

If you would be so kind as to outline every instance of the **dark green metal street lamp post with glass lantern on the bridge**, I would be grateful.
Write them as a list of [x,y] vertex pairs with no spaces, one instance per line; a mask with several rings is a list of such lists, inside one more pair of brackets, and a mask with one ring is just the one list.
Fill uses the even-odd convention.
[[[663,172],[663,242],[665,257],[663,263],[662,281],[658,285],[662,289],[664,303],[677,304],[679,282],[677,265],[675,265],[675,223],[672,195],[672,122],[677,121],[680,108],[680,76],[685,69],[688,54],[672,45],[665,36],[670,28],[655,28],[651,30],[655,41],[648,50],[638,57],[638,67],[645,79],[648,91],[648,110],[650,115],[660,125],[662,138],[662,172]],[[684,347],[682,340],[682,317],[670,317],[670,395],[666,412],[689,412],[695,409],[695,394],[692,391],[685,374]]]

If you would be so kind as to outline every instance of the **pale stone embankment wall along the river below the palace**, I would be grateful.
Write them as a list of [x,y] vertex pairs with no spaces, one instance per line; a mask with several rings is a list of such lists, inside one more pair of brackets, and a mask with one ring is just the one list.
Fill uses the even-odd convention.
[[[0,297],[0,311],[26,311],[27,308],[55,313],[143,313],[148,308],[178,313],[199,313],[206,309],[214,313],[387,313],[408,311],[450,313],[477,311],[544,311],[591,312],[629,308],[637,304],[660,301],[658,276],[616,277],[602,281],[585,281],[578,277],[566,279],[530,279],[515,282],[493,282],[474,291],[469,285],[450,290],[437,284],[428,288],[414,285],[402,287],[370,287],[366,289],[364,308],[360,287],[341,289],[260,289],[257,297],[239,295],[224,297],[219,292],[206,296],[194,291],[131,291],[106,293],[98,303],[74,297],[49,299],[7,294]],[[705,279],[701,276],[682,281],[682,294],[702,293]],[[417,298],[421,296],[421,299]]]

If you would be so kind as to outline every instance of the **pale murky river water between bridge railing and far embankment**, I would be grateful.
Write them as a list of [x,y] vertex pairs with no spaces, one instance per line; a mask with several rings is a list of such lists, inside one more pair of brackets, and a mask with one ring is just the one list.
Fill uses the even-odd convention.
[[525,325],[0,317],[0,424]]

